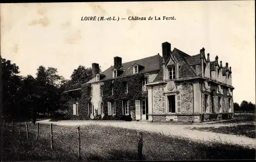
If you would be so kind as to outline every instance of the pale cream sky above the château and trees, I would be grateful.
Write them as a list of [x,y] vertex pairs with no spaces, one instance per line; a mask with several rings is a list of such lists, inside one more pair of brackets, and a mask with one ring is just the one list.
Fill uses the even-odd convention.
[[[114,57],[128,62],[162,55],[168,41],[189,55],[205,48],[232,69],[234,102],[255,103],[254,1],[0,4],[1,56],[35,76],[43,65],[70,79],[79,65],[101,69]],[[82,21],[84,16],[119,21]],[[161,20],[128,20],[129,16]],[[175,20],[163,20],[163,16]],[[121,18],[126,18],[121,20]]]

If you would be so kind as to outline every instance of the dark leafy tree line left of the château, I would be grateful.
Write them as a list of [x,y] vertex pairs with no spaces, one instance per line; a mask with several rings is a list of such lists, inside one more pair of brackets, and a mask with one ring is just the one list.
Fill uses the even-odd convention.
[[57,68],[39,66],[36,76],[19,75],[19,67],[1,57],[1,119],[36,119],[38,113],[51,114],[62,105],[62,92],[92,79],[92,68],[79,65],[71,79]]

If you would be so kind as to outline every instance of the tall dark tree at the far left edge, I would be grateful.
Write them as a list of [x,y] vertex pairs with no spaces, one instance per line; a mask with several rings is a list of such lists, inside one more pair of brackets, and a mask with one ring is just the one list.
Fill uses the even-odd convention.
[[1,88],[2,88],[2,118],[15,119],[18,112],[17,94],[22,83],[22,77],[18,76],[19,67],[10,60],[1,57]]

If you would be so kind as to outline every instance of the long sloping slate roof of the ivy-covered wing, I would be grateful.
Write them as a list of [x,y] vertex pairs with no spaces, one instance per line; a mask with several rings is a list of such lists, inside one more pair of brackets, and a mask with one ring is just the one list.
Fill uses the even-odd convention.
[[[158,55],[155,55],[155,56],[146,57],[146,58],[143,58],[143,59],[122,63],[121,70],[124,70],[124,72],[121,75],[119,75],[118,77],[124,77],[124,76],[128,76],[128,75],[132,75],[133,74],[133,65],[134,64],[139,64],[141,66],[144,66],[139,71],[138,74],[146,73],[146,72],[151,72],[151,71],[156,71],[156,70],[160,70],[162,68],[161,67],[162,57],[158,54]],[[112,70],[113,70],[113,68],[114,68],[114,66],[111,66],[107,70],[102,72],[101,74],[104,74],[105,77],[103,79],[101,79],[100,81],[104,81],[104,80],[108,80],[108,79],[113,78],[112,77],[112,74],[113,74]],[[96,82],[96,77],[91,79],[87,83],[93,83],[93,82]]]

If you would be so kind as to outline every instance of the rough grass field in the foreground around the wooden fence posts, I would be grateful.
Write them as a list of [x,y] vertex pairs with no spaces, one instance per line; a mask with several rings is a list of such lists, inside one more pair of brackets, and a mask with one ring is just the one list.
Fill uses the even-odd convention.
[[[29,124],[29,140],[22,123],[18,135],[16,124],[7,125],[1,135],[2,161],[44,160],[137,160],[138,131],[89,125],[80,127],[81,158],[78,159],[77,128],[53,125],[53,150],[50,149],[50,126]],[[185,137],[168,137],[161,133],[143,132],[144,160],[255,159],[255,149],[217,141],[200,143]]]

